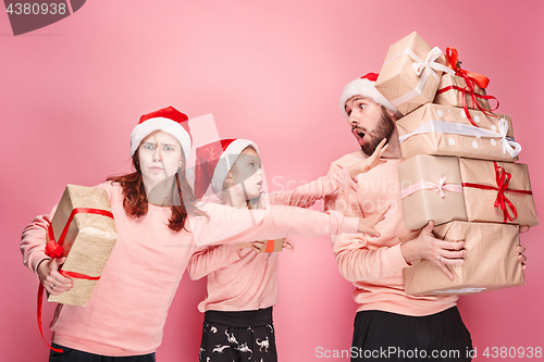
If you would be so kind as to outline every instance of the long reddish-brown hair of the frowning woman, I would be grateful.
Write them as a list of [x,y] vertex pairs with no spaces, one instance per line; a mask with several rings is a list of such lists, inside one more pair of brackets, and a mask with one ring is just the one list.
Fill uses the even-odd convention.
[[[110,176],[107,180],[118,183],[123,188],[123,208],[125,212],[132,217],[141,217],[147,214],[148,211],[148,199],[146,194],[146,188],[144,187],[144,177],[139,170],[138,161],[138,150],[134,152],[133,165],[136,172],[132,174],[121,175],[121,176]],[[187,214],[208,216],[203,211],[196,207],[196,198],[193,189],[187,183],[185,176],[185,157],[183,162],[183,167],[175,175],[175,186],[180,197],[180,204],[177,202],[172,202],[170,207],[172,210],[172,215],[169,219],[169,228],[174,232],[180,232],[182,228],[187,230],[185,227],[185,221],[187,220]]]

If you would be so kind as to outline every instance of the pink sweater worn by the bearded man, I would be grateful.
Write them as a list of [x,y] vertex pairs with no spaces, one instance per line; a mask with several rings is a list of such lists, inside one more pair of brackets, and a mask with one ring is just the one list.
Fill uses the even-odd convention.
[[[330,172],[348,167],[366,159],[362,151],[346,154],[333,162]],[[370,216],[385,204],[392,208],[378,224],[379,238],[363,234],[333,236],[333,248],[341,274],[356,290],[357,311],[380,310],[405,315],[429,315],[456,304],[457,297],[413,297],[404,290],[403,269],[409,267],[400,252],[399,236],[405,229],[397,165],[388,159],[366,174],[356,185],[325,198],[325,210],[337,210],[346,216]]]

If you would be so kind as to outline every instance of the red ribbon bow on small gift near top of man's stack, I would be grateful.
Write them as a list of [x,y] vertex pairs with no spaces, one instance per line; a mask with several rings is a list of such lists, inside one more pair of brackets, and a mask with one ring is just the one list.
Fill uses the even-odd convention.
[[[498,109],[498,100],[495,97],[493,97],[493,96],[482,96],[482,95],[475,93],[475,91],[474,91],[474,84],[477,86],[479,86],[480,88],[482,88],[482,89],[487,88],[487,85],[490,84],[490,78],[487,78],[485,75],[482,75],[482,74],[478,74],[478,73],[473,73],[473,72],[461,70],[460,62],[459,62],[459,55],[457,53],[457,49],[449,48],[449,47],[446,48],[446,54],[445,55],[446,55],[447,65],[455,71],[455,74],[457,76],[460,76],[460,77],[462,77],[465,79],[465,83],[467,84],[467,86],[465,88],[460,88],[460,87],[457,87],[457,86],[445,87],[443,89],[440,89],[437,91],[437,93],[440,95],[440,93],[443,93],[443,92],[448,91],[450,89],[462,91],[462,109],[465,110],[465,113],[467,114],[467,118],[470,121],[470,123],[473,126],[479,127],[472,121],[472,116],[469,113],[469,110],[468,110],[468,107],[467,107],[467,99],[466,99],[467,91],[469,92],[469,95],[470,95],[470,97],[472,99],[472,108],[473,109],[474,109],[474,107],[477,107],[485,115],[487,115],[487,116],[496,116],[495,114],[493,114],[493,111],[495,111],[495,110]],[[494,99],[497,102],[497,105],[494,109],[489,109],[489,110],[484,109],[484,108],[482,108],[480,105],[480,103],[478,103],[477,98],[487,99],[487,100]]]

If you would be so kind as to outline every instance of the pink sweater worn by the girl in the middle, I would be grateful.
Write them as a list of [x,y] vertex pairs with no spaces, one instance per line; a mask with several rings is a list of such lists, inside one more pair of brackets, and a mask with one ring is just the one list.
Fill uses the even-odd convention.
[[[274,192],[270,195],[270,203],[309,208],[325,195],[336,192],[342,185],[355,185],[346,170],[292,191]],[[198,310],[248,311],[274,305],[277,302],[279,257],[277,252],[236,250],[234,245],[198,250],[187,265],[191,279],[208,275],[208,295],[198,304]]]

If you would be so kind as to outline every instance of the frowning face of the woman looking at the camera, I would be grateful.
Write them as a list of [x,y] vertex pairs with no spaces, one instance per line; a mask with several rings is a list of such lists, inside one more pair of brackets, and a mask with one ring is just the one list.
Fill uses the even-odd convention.
[[159,130],[144,138],[138,148],[138,159],[144,186],[149,192],[177,172],[183,164],[183,151],[174,136]]

